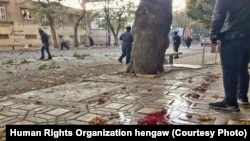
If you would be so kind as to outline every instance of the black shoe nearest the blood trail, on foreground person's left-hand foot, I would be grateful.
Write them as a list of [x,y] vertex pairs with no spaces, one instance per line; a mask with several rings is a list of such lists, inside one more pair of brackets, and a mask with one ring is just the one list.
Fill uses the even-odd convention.
[[227,110],[227,111],[240,111],[238,105],[229,106],[224,101],[209,103],[209,107],[215,108],[215,109]]

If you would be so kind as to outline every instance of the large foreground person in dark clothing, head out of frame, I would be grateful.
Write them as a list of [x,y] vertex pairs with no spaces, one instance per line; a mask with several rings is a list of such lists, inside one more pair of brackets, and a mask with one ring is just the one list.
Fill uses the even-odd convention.
[[250,1],[216,0],[210,40],[220,40],[220,58],[225,98],[209,103],[211,108],[240,111],[239,104],[249,104]]

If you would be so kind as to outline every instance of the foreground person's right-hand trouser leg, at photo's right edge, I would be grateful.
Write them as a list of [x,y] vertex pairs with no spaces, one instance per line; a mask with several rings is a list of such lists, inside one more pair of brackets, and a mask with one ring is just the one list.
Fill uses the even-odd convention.
[[240,61],[240,67],[238,72],[238,103],[249,104],[248,89],[249,89],[249,72],[248,64],[250,60],[250,42],[242,42],[241,47],[245,47]]

